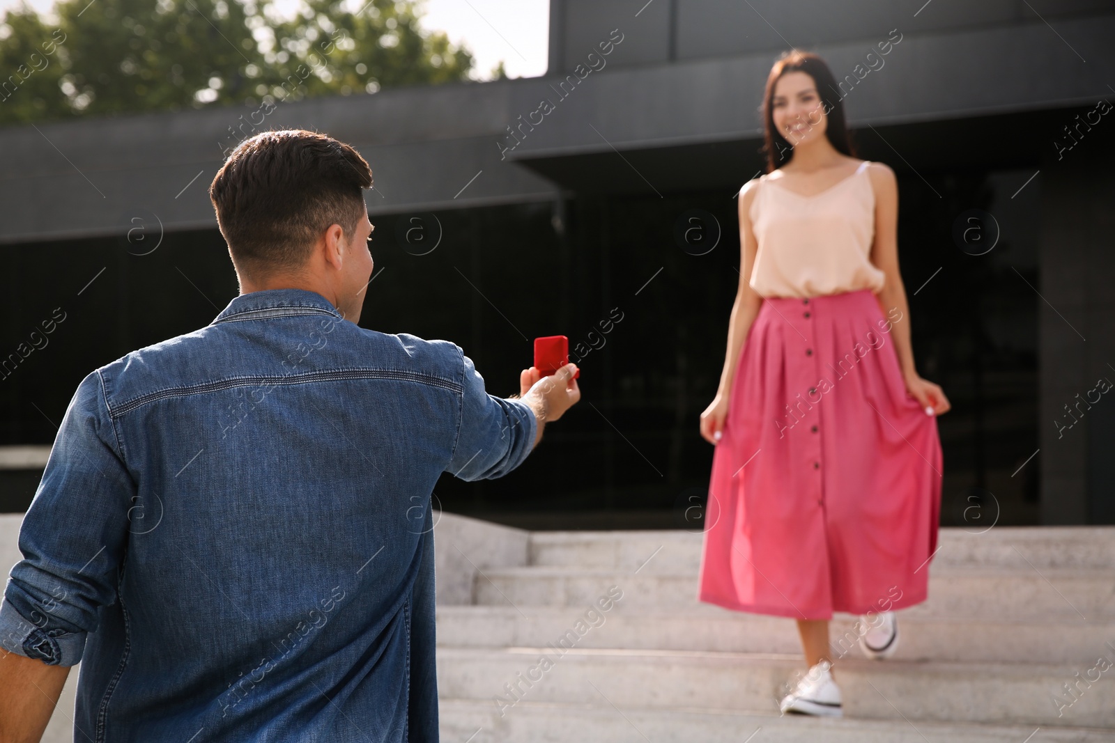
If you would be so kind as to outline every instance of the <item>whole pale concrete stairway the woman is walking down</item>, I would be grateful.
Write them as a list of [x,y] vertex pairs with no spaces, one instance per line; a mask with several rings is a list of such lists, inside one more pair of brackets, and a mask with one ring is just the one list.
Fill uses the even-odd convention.
[[444,514],[443,741],[1115,740],[1115,528],[973,531],[941,530],[891,658],[864,658],[836,616],[844,717],[820,720],[777,710],[805,669],[791,619],[697,602],[699,532]]

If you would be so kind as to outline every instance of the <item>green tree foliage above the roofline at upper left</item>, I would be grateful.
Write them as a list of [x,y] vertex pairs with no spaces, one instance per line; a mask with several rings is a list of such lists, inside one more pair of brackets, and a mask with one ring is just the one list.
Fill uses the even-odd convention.
[[273,104],[465,80],[467,49],[427,33],[414,1],[61,0],[0,22],[0,124]]

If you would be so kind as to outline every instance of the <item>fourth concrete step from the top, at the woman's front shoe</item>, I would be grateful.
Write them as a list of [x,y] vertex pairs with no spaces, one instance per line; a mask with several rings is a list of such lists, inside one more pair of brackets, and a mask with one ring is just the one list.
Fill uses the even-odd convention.
[[[777,700],[805,671],[799,656],[776,654],[543,646],[439,647],[437,655],[443,698],[472,700],[505,717],[524,702],[777,714]],[[849,717],[914,726],[938,721],[1115,729],[1111,680],[1082,685],[1075,701],[1064,691],[1085,671],[1068,664],[849,658],[840,662],[836,681]]]

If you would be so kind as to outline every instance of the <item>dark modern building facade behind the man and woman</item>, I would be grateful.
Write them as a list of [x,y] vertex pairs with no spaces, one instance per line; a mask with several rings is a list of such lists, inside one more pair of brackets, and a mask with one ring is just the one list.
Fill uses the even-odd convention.
[[[1113,37],[1112,2],[551,0],[542,78],[2,129],[0,444],[49,444],[88,371],[227,304],[206,196],[224,148],[311,128],[376,176],[362,325],[459,343],[495,394],[537,335],[580,360],[582,403],[518,471],[446,475],[435,504],[699,528],[734,197],[797,47],[828,61],[857,154],[899,176],[918,368],[953,403],[942,524],[1113,524]],[[0,471],[3,507],[40,475]]]

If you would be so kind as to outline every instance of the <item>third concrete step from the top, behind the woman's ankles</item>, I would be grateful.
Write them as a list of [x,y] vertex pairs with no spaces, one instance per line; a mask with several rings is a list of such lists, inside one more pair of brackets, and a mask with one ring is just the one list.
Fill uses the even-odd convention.
[[[711,608],[709,613],[597,612],[586,616],[588,607],[575,606],[439,606],[437,639],[444,646],[474,648],[543,647],[565,637],[568,644],[601,649],[801,653],[794,622]],[[918,613],[917,607],[898,616],[899,647],[893,661],[1076,663],[1084,669],[1098,655],[1115,659],[1115,618],[973,622]],[[830,637],[834,659],[862,656],[855,617],[836,615]]]

